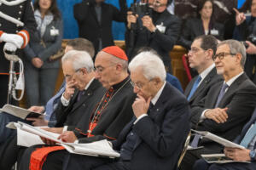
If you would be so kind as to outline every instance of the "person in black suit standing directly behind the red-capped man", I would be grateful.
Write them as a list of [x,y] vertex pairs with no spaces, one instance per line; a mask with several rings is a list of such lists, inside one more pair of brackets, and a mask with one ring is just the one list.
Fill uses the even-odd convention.
[[96,54],[113,45],[112,21],[125,22],[127,7],[119,0],[120,10],[104,0],[84,0],[73,7],[74,18],[79,24],[79,37],[93,42]]

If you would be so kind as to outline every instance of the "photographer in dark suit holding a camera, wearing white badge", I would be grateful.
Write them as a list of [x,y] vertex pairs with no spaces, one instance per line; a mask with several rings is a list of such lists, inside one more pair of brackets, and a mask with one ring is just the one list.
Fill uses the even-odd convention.
[[172,0],[149,0],[131,6],[125,32],[126,53],[130,60],[138,48],[150,47],[162,57],[166,71],[172,72],[169,52],[177,41],[181,21],[167,11],[170,3]]

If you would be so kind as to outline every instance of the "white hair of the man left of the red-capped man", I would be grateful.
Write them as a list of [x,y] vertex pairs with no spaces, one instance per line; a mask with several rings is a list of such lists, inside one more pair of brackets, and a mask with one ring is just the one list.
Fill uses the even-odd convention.
[[73,63],[73,69],[75,71],[78,71],[80,68],[85,68],[87,72],[94,71],[94,65],[90,54],[85,51],[70,50],[62,57],[62,64],[67,60]]

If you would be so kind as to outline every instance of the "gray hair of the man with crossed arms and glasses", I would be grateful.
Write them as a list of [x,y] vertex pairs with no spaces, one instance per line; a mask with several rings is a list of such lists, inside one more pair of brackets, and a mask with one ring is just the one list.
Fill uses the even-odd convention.
[[244,47],[244,45],[241,42],[238,42],[236,40],[225,40],[223,42],[219,42],[218,47],[224,44],[227,44],[229,46],[230,54],[241,54],[240,64],[242,68],[244,68],[244,65],[247,59],[247,52],[246,52],[247,49]]

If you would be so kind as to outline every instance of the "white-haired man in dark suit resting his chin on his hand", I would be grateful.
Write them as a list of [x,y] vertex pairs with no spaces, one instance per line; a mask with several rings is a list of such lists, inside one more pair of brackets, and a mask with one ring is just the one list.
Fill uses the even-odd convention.
[[133,119],[112,142],[120,157],[113,161],[71,154],[64,169],[177,169],[189,133],[189,104],[165,81],[165,66],[156,54],[137,54],[129,69],[137,99],[132,105]]

